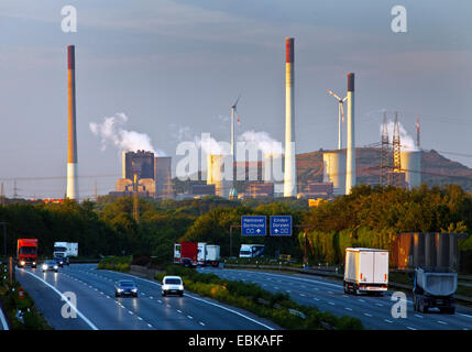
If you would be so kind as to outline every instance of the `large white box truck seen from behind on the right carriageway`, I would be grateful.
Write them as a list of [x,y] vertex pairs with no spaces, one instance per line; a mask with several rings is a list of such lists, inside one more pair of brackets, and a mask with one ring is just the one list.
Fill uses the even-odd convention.
[[388,251],[345,249],[344,293],[382,294],[388,287]]

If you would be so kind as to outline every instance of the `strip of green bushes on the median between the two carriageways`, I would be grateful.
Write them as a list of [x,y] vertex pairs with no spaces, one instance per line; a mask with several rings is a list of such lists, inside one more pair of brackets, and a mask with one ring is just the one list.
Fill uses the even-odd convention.
[[156,274],[162,280],[165,275],[182,276],[185,289],[200,296],[211,297],[221,302],[249,310],[290,330],[361,330],[359,319],[341,318],[323,312],[316,307],[298,305],[288,294],[273,294],[259,285],[219,278],[215,274],[169,265],[165,273]]

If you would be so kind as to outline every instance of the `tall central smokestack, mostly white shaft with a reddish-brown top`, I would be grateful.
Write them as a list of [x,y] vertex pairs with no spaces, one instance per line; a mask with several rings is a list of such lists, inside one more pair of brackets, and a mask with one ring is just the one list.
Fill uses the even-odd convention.
[[285,170],[284,197],[297,196],[297,169],[295,158],[295,57],[294,38],[285,40]]

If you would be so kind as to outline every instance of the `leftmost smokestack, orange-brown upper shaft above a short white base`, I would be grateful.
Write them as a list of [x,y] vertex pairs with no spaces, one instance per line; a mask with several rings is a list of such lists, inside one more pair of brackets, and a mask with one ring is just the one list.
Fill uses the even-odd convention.
[[76,79],[75,79],[75,46],[67,46],[67,193],[69,199],[79,199],[77,179],[77,131],[76,131]]

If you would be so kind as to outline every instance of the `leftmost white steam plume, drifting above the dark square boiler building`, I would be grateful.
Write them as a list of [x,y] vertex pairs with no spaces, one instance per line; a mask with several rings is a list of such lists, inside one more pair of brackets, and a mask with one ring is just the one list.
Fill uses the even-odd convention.
[[124,130],[122,127],[128,120],[128,117],[120,112],[113,117],[105,118],[101,123],[89,123],[90,131],[101,139],[102,151],[107,148],[108,143],[111,143],[121,151],[144,150],[153,152],[156,156],[165,156],[163,151],[154,148],[147,134]]

